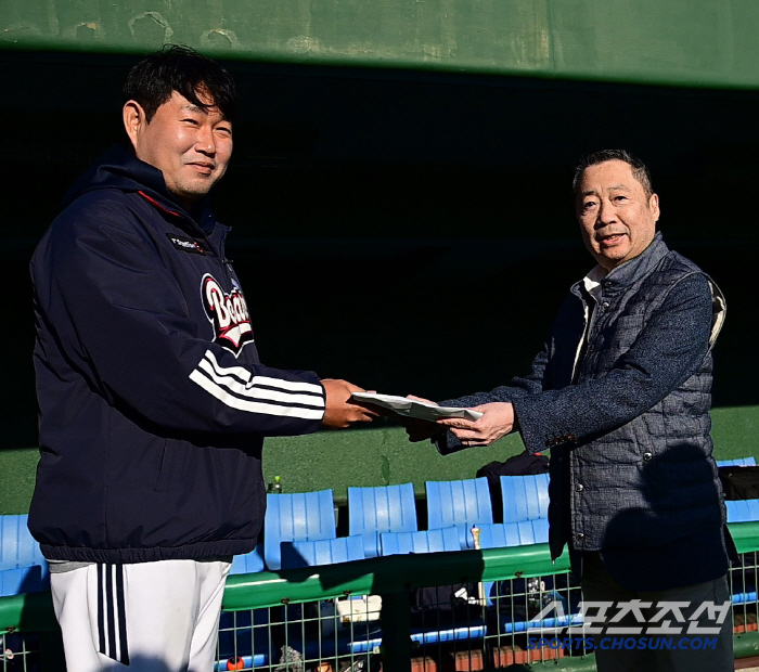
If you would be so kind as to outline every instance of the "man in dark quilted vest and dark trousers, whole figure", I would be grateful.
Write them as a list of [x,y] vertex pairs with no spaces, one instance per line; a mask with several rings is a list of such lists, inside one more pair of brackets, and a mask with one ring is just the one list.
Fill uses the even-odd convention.
[[[415,423],[409,434],[443,453],[511,431],[530,453],[551,450],[552,557],[568,545],[584,598],[608,603],[594,625],[630,629],[594,633],[600,671],[732,670],[732,542],[709,435],[724,298],[657,233],[659,199],[639,159],[597,152],[574,188],[597,266],[571,287],[530,374],[441,402],[480,411],[476,422]],[[673,603],[689,606],[665,616]],[[712,645],[694,650],[689,633]],[[651,650],[661,635],[677,648]],[[615,647],[615,637],[629,641]]]

